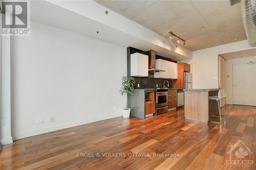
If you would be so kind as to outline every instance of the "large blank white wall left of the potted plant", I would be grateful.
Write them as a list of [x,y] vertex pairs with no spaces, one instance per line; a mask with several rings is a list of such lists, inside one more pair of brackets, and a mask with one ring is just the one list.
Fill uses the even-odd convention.
[[31,36],[11,38],[11,58],[14,139],[121,116],[126,47],[31,21]]

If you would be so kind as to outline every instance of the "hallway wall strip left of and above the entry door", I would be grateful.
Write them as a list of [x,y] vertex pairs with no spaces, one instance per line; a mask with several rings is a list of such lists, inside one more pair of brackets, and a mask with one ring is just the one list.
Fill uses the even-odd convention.
[[[233,59],[233,60],[227,60],[226,61],[226,95],[227,95],[227,103],[228,104],[233,104],[232,100],[232,77],[233,77],[233,65],[234,64],[243,64],[243,63],[248,63],[250,61],[255,61],[256,62],[256,56],[254,57],[245,57],[245,58],[239,58],[239,59]],[[229,76],[229,78],[227,78]]]

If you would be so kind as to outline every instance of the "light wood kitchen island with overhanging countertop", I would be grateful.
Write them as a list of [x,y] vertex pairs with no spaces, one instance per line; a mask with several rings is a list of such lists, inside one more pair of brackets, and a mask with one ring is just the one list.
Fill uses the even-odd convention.
[[183,89],[183,90],[184,90],[185,118],[207,123],[209,120],[208,98],[211,95],[218,95],[219,89]]

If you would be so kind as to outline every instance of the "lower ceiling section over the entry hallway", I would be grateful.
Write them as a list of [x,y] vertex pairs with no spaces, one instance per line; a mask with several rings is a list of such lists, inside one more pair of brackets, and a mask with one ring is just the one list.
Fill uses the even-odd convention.
[[232,60],[236,58],[253,57],[256,56],[256,48],[250,50],[243,50],[239,52],[225,53],[220,55],[225,60]]

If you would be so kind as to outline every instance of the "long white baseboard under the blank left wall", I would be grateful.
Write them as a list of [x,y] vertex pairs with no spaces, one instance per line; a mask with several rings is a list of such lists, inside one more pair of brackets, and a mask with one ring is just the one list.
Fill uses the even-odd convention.
[[121,116],[121,115],[110,115],[110,116],[104,116],[104,117],[96,117],[93,119],[80,120],[77,122],[71,122],[71,123],[56,125],[56,126],[52,126],[52,127],[36,129],[36,130],[29,131],[29,132],[13,134],[13,140],[22,139],[25,137],[35,136],[35,135],[39,135],[39,134],[44,134],[44,133],[48,133],[48,132],[53,132],[53,131],[57,131],[57,130],[61,130],[61,129],[71,128],[71,127],[75,127],[75,126],[79,126],[79,125],[89,124],[89,123],[93,123],[93,122],[98,122],[100,120],[105,120],[105,119],[119,117],[119,116]]

